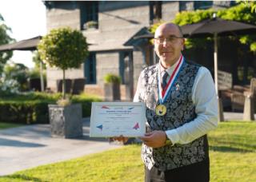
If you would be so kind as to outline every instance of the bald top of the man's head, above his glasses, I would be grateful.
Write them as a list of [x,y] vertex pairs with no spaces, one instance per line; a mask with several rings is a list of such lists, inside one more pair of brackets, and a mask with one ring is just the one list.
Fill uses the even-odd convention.
[[176,32],[178,37],[183,37],[181,27],[172,22],[163,23],[158,26],[157,30],[155,30],[154,38],[158,38],[158,35],[161,34],[162,31]]

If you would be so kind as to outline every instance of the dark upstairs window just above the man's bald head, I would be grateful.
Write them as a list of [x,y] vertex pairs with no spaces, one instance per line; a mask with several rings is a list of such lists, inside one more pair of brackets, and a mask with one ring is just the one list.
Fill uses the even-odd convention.
[[162,2],[150,1],[150,24],[158,22],[162,18]]

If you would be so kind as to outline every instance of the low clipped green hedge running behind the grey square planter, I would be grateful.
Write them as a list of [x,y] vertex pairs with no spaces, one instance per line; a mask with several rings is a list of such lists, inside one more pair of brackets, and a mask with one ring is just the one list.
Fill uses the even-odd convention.
[[[48,97],[48,96],[46,96]],[[56,99],[49,99],[46,97],[38,97],[30,100],[27,97],[13,97],[10,99],[3,99],[0,101],[0,122],[22,123],[22,124],[48,124],[49,112],[48,105],[55,104]],[[35,97],[33,97],[35,98]],[[96,97],[74,96],[73,103],[82,104],[82,117],[90,116],[91,103],[93,101],[101,101]]]

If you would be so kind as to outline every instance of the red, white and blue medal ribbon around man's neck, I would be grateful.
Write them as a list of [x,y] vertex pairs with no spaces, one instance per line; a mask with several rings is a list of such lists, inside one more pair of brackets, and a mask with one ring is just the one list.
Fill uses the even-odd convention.
[[[176,65],[174,72],[171,74],[170,79],[166,85],[165,89],[161,89],[161,72],[160,72],[160,63],[159,63],[159,69],[158,69],[158,97],[159,97],[159,102],[160,104],[162,104],[163,102],[166,101],[166,97],[168,95],[168,93],[170,92],[170,88],[172,87],[172,85],[174,85],[174,80],[176,79],[178,73],[180,72],[181,68],[182,68],[182,64],[184,62],[184,58],[181,55],[181,57],[179,58],[178,61],[178,65]],[[162,90],[162,94],[161,94],[161,90]]]

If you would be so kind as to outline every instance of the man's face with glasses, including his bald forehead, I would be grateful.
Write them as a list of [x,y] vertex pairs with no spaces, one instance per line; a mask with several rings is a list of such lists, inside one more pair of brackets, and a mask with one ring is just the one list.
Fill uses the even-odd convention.
[[184,46],[184,38],[177,26],[164,24],[154,34],[154,50],[162,61],[162,65],[174,65],[180,57]]

